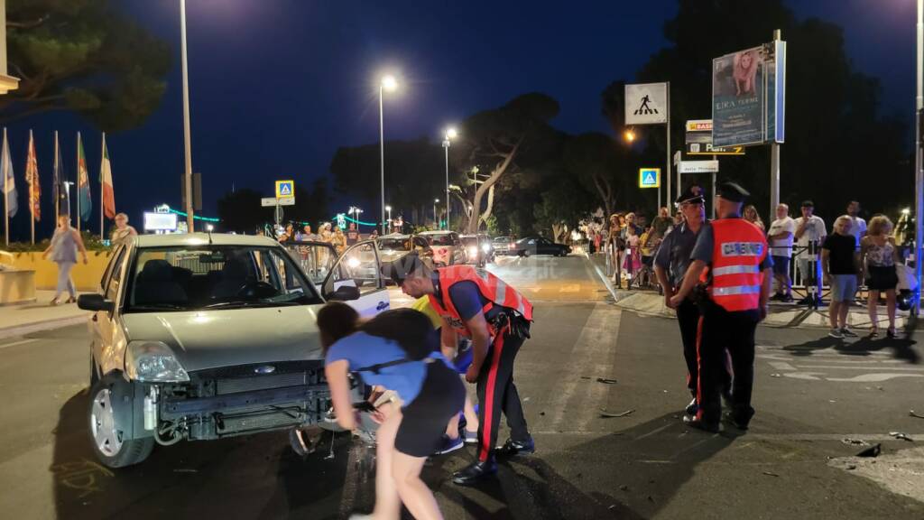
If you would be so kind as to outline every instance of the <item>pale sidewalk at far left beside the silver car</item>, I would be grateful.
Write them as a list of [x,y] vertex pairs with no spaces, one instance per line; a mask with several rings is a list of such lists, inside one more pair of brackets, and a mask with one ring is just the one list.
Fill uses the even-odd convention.
[[77,303],[51,306],[55,291],[35,291],[36,302],[0,306],[0,338],[85,323],[91,313]]

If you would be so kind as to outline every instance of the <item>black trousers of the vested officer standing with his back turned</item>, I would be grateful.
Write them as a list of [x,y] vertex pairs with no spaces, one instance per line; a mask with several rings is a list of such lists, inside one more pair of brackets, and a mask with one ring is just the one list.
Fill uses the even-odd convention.
[[748,424],[751,390],[754,386],[754,332],[758,311],[728,312],[715,303],[705,303],[699,321],[699,418],[705,423],[718,423],[722,417],[721,391],[727,377],[724,351],[732,359],[735,377],[732,380],[732,414],[736,421]]

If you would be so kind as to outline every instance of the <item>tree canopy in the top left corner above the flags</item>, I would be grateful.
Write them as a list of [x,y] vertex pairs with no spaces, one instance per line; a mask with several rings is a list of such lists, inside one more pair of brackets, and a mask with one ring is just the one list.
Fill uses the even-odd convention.
[[107,0],[7,0],[9,73],[0,121],[70,110],[105,131],[139,126],[160,105],[170,47]]

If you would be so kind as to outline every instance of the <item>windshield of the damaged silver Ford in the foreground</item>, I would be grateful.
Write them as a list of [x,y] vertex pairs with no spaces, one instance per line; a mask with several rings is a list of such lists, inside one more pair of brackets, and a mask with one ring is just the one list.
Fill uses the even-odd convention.
[[130,273],[125,312],[322,303],[281,247],[142,248]]

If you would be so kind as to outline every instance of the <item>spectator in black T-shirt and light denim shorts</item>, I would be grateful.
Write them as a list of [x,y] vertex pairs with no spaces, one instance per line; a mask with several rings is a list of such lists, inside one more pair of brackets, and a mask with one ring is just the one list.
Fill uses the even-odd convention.
[[853,303],[861,281],[859,253],[854,235],[850,232],[852,226],[853,220],[849,215],[837,217],[834,232],[821,246],[821,272],[824,273],[824,283],[831,287],[831,332],[828,335],[832,338],[857,337],[847,328],[850,303]]

